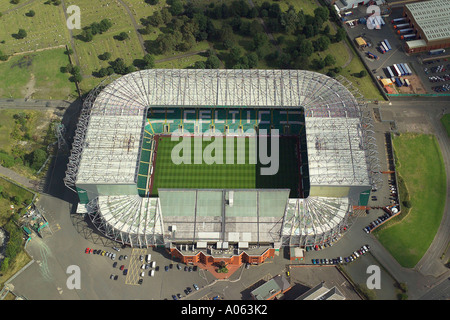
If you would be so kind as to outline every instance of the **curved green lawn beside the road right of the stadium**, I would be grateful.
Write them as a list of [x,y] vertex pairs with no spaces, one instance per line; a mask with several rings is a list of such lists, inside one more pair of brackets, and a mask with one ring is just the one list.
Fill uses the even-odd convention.
[[[413,268],[439,228],[445,206],[446,173],[433,135],[401,134],[393,139],[397,172],[408,189],[412,207],[406,216],[376,231],[380,242],[404,267]],[[401,196],[401,195],[400,195]]]

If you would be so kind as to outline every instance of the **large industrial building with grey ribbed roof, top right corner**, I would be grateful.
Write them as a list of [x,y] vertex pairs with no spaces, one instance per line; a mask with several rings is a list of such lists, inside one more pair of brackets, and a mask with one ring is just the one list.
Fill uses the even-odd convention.
[[406,41],[408,53],[427,52],[450,47],[450,2],[430,0],[405,4],[403,17],[416,39]]

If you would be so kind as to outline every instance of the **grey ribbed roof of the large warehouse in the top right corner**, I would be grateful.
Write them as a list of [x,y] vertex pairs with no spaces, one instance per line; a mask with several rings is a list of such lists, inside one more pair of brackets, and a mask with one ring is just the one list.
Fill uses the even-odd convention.
[[450,39],[450,1],[431,0],[405,4],[428,41]]

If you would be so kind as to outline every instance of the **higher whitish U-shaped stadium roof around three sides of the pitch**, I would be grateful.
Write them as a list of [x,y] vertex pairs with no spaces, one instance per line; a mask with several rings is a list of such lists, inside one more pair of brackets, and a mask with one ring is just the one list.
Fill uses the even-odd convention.
[[[153,69],[127,74],[96,97],[84,141],[79,137],[78,149],[72,150],[78,154],[69,161],[73,184],[135,183],[147,108],[161,105],[303,107],[308,139],[314,144],[328,140],[321,160],[310,165],[315,181],[334,185],[346,179],[360,183],[361,177],[367,177],[356,151],[361,144],[356,141],[361,138],[357,126],[361,111],[353,95],[335,79],[304,70]],[[344,143],[326,137],[336,132]],[[310,146],[310,152],[314,157],[319,151]],[[329,177],[332,166],[333,177]]]

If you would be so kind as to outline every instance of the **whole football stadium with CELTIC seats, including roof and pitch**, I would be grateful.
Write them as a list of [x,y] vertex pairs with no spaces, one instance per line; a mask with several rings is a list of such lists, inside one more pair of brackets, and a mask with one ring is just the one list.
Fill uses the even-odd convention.
[[[348,228],[381,181],[373,133],[344,78],[142,70],[86,98],[64,182],[121,244],[186,263],[260,263]],[[277,170],[266,175],[269,154]]]

